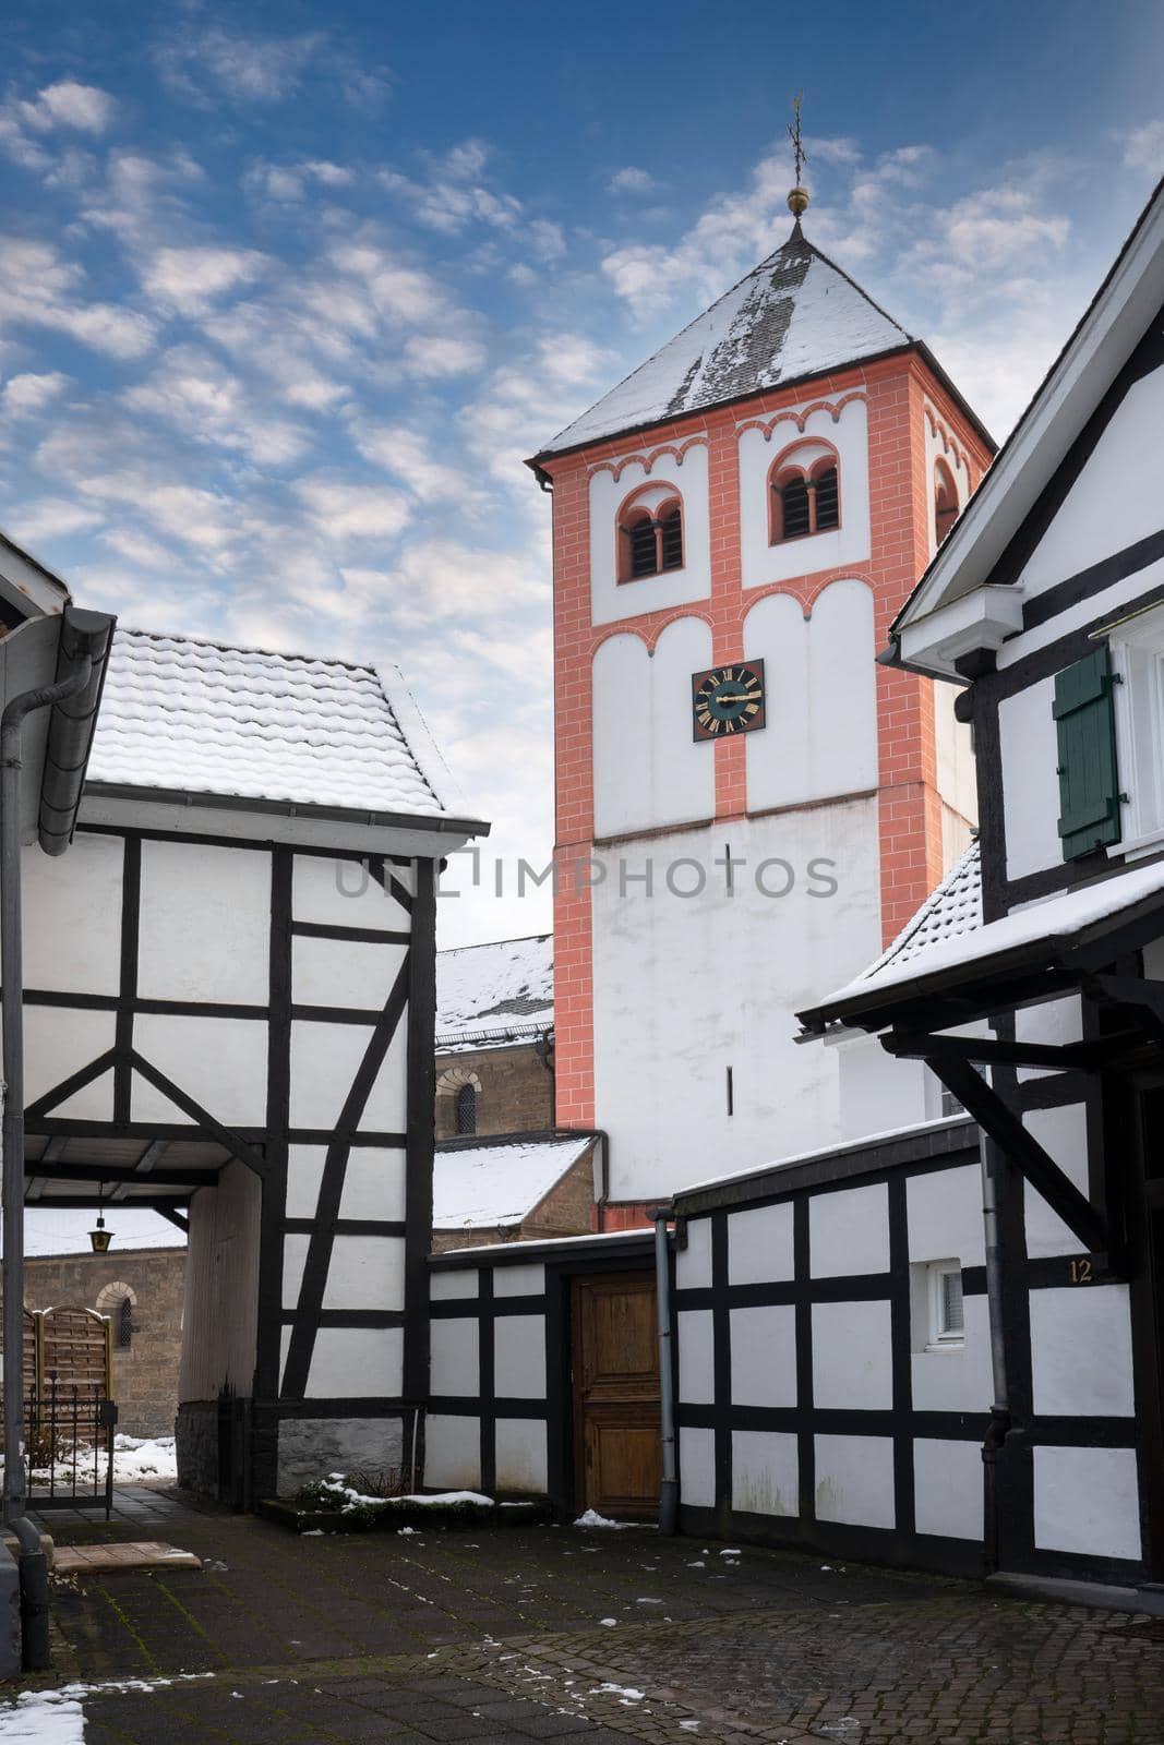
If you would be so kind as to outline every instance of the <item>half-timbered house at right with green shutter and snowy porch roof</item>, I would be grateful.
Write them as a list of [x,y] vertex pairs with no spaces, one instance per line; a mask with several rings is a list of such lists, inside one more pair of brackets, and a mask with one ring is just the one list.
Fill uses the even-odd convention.
[[1164,1579],[1162,417],[1164,188],[892,630],[974,726],[981,925],[803,1014],[983,1129],[988,1560],[1124,1584]]

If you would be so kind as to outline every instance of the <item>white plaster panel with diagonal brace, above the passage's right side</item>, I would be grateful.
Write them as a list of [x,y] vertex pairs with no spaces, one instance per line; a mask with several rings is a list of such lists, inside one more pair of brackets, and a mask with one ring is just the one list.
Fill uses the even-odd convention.
[[[136,1052],[227,1127],[267,1124],[267,1023],[140,1012]],[[190,1120],[164,1092],[133,1075],[133,1120]]]

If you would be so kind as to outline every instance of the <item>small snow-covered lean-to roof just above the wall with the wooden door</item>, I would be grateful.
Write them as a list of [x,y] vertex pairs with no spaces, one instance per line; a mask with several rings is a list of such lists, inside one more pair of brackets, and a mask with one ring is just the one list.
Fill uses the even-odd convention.
[[440,1146],[433,1162],[433,1228],[469,1232],[520,1223],[592,1145],[592,1134],[579,1134]]

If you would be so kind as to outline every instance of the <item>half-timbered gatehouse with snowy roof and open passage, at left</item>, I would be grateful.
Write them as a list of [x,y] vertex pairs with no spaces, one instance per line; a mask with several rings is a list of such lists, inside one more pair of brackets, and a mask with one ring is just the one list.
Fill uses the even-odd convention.
[[24,879],[28,1197],[188,1223],[192,1488],[419,1461],[435,886],[483,829],[394,668],[117,632]]

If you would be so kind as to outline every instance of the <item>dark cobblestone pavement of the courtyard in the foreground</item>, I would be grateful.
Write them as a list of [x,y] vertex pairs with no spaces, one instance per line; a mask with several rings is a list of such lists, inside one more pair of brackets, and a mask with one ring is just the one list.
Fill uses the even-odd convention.
[[148,1529],[204,1569],[59,1586],[54,1673],[19,1719],[77,1682],[86,1745],[1164,1742],[1161,1621],[640,1529],[297,1539],[166,1499],[122,1515],[52,1527]]

